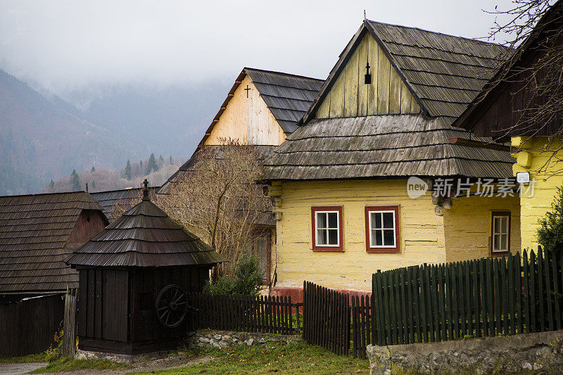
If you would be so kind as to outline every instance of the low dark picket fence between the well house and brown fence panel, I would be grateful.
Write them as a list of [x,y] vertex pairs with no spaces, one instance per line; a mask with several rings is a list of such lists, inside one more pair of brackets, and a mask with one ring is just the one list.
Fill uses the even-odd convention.
[[197,328],[284,335],[301,331],[303,304],[292,303],[291,297],[190,293],[189,300]]

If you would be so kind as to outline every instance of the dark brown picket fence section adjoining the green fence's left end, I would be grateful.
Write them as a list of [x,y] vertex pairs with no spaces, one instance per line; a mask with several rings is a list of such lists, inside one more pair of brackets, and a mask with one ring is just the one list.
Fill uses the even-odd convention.
[[350,305],[346,293],[303,283],[303,338],[338,355],[350,350]]

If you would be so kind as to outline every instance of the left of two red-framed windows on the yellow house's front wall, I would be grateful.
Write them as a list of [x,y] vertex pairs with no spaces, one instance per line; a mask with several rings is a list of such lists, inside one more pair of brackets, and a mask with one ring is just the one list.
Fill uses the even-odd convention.
[[342,208],[312,207],[313,250],[342,250]]

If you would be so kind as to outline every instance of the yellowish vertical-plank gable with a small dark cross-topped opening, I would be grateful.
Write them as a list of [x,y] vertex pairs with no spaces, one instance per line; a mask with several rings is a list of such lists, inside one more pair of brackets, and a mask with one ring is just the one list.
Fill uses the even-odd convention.
[[[372,83],[365,84],[366,64]],[[324,98],[315,117],[356,117],[393,113],[419,113],[397,70],[375,39],[366,34]]]

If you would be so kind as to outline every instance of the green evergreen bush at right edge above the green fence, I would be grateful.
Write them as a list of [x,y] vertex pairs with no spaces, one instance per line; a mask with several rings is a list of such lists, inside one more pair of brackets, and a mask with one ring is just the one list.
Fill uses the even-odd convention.
[[552,210],[540,219],[538,243],[545,250],[559,254],[563,250],[563,187],[557,188]]

